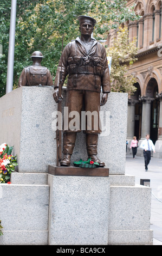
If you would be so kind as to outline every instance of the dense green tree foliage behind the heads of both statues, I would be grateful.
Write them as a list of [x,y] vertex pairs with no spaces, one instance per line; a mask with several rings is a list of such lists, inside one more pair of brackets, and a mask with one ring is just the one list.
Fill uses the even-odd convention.
[[[3,45],[0,96],[5,94],[7,80],[10,10],[10,0],[0,2],[0,44]],[[24,66],[31,64],[30,56],[36,50],[43,53],[42,65],[47,66],[55,77],[62,35],[63,46],[80,35],[79,15],[90,15],[97,20],[96,39],[105,39],[109,29],[118,27],[119,23],[139,19],[133,10],[126,7],[125,0],[17,0],[14,88]]]

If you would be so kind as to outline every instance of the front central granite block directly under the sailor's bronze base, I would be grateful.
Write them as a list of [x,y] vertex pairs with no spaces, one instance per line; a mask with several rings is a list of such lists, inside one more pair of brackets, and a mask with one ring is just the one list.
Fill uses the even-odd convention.
[[107,245],[108,177],[48,175],[49,245]]

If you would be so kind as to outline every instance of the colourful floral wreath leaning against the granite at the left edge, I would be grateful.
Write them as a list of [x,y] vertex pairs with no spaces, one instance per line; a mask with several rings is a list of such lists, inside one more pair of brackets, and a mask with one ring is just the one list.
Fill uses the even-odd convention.
[[15,172],[15,166],[17,166],[17,155],[11,155],[13,148],[6,143],[0,145],[0,183],[11,183],[10,174]]

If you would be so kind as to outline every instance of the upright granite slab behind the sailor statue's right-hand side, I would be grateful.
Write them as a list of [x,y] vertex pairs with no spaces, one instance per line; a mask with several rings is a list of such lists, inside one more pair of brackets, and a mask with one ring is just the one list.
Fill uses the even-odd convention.
[[[109,111],[109,136],[99,136],[99,158],[106,162],[109,174],[125,174],[127,93],[111,93],[101,111]],[[104,150],[103,150],[104,149]]]

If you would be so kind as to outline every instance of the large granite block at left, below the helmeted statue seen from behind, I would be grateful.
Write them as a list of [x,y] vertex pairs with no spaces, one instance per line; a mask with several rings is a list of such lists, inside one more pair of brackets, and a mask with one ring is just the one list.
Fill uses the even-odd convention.
[[0,142],[14,145],[18,172],[46,172],[56,158],[51,113],[56,107],[53,89],[21,87],[0,99]]

